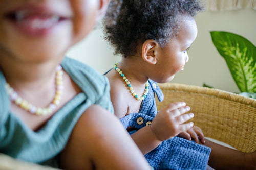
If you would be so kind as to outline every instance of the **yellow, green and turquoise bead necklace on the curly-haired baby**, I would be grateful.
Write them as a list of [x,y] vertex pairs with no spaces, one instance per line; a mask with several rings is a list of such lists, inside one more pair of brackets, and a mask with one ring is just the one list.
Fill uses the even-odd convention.
[[120,76],[123,78],[123,80],[126,82],[127,86],[129,87],[129,90],[131,90],[132,95],[137,99],[137,100],[144,100],[146,98],[146,95],[148,93],[148,81],[146,82],[145,85],[145,90],[144,90],[144,94],[139,97],[133,90],[132,85],[130,84],[129,80],[124,76],[123,72],[117,67],[117,63],[114,64],[115,67],[114,69],[120,74]]

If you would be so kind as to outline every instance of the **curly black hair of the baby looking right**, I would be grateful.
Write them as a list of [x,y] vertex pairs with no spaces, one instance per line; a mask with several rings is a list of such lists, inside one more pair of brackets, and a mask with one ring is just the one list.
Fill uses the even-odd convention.
[[135,55],[147,39],[164,47],[177,35],[181,16],[202,10],[200,0],[112,0],[103,20],[105,39],[123,57]]

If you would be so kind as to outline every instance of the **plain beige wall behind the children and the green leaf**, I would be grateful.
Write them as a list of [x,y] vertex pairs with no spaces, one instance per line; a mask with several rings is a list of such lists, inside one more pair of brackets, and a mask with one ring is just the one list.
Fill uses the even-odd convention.
[[[206,83],[218,89],[239,92],[225,60],[212,44],[209,31],[228,31],[244,36],[256,44],[256,10],[199,13],[196,17],[198,36],[188,51],[189,62],[184,71],[176,74],[172,82],[202,86]],[[76,58],[100,73],[104,73],[120,60],[103,39],[100,26],[82,42],[74,46],[68,56]]]

